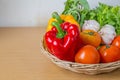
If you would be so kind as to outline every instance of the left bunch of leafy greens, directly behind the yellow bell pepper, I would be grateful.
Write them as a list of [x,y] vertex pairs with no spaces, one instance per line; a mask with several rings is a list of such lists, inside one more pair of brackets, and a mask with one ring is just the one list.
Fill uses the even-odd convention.
[[[83,9],[84,8],[84,9]],[[90,9],[87,0],[67,0],[62,14],[70,14],[79,23],[81,21],[81,11]],[[80,23],[79,23],[80,24]]]

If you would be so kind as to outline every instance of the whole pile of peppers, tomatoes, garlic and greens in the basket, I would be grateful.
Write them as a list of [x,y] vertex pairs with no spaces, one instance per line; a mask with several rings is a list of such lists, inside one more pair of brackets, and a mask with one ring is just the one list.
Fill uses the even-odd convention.
[[120,6],[67,0],[53,12],[44,35],[47,50],[65,61],[98,64],[120,60]]

